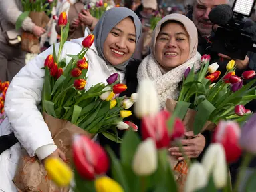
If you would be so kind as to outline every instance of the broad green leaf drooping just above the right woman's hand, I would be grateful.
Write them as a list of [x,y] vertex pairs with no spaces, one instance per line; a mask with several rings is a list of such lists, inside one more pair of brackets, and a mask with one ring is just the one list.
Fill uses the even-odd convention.
[[195,115],[195,121],[193,123],[194,134],[197,135],[200,133],[201,129],[204,127],[205,123],[209,119],[211,113],[216,108],[210,103],[207,99],[202,101],[200,105],[197,107],[197,113]]

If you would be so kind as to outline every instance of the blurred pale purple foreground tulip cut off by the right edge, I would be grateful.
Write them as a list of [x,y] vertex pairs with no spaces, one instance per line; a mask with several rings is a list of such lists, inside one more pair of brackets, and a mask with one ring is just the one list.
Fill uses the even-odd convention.
[[243,125],[241,129],[240,146],[245,151],[256,154],[256,114]]

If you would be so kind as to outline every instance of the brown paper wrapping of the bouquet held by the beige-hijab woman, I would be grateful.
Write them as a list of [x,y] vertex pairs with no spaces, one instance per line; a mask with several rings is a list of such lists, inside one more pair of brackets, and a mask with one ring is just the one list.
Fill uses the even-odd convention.
[[[173,113],[177,103],[178,102],[173,99],[167,99],[165,109]],[[186,131],[193,131],[193,123],[196,114],[197,111],[193,109],[188,109],[186,116],[182,121],[186,127]],[[207,123],[205,123],[205,126],[201,130],[201,133],[203,133],[203,131],[205,130],[213,131],[215,127],[215,123],[207,121]],[[178,184],[178,191],[182,192],[184,191],[184,185],[186,183],[186,177],[188,173],[188,164],[190,162],[178,161],[176,157],[172,156],[169,157],[169,161],[170,165],[173,167],[174,177],[176,178],[176,182]]]

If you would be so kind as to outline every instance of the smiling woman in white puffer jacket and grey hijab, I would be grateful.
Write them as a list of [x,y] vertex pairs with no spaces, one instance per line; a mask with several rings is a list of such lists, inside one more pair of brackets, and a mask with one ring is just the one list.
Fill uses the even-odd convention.
[[[86,35],[88,33],[90,32],[86,31]],[[126,65],[140,37],[140,20],[130,9],[116,7],[106,11],[93,33],[94,44],[86,53],[86,59],[89,60],[86,88],[106,82],[108,76],[116,72],[120,74],[122,81]],[[82,40],[83,38],[66,42],[62,58],[66,57],[66,54],[79,53],[82,49]],[[23,67],[14,77],[7,91],[5,100],[7,119],[1,124],[0,135],[14,132],[19,143],[0,155],[0,191],[17,191],[11,180],[23,148],[31,157],[37,155],[41,161],[48,157],[65,159],[65,155],[54,145],[51,133],[38,109],[45,75],[42,67],[45,58],[51,53],[53,53],[52,47]],[[66,59],[67,62],[70,60],[69,57]]]

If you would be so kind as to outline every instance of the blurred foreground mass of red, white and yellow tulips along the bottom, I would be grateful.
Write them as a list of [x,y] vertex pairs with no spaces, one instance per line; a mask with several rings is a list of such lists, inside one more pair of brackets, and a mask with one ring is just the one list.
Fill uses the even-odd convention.
[[[175,114],[159,111],[156,89],[152,81],[146,81],[140,84],[135,106],[136,115],[142,118],[142,141],[134,131],[127,131],[120,147],[120,159],[117,159],[110,148],[107,147],[106,152],[88,137],[75,135],[72,144],[76,167],[74,175],[59,159],[47,159],[45,167],[49,177],[59,186],[70,185],[74,177],[72,188],[76,192],[231,192],[227,163],[236,161],[243,149],[247,151],[243,157],[245,161],[233,187],[233,192],[238,192],[245,167],[253,154],[256,154],[255,116],[243,129],[235,121],[221,120],[202,162],[189,165],[188,177],[184,186],[181,186],[174,177],[174,171],[182,167],[170,165],[168,147],[170,143],[180,143],[185,128]],[[144,85],[148,85],[150,94],[145,92],[146,89],[142,87]],[[112,178],[106,176],[110,165]],[[255,189],[254,179],[255,174],[248,179],[246,191]]]

